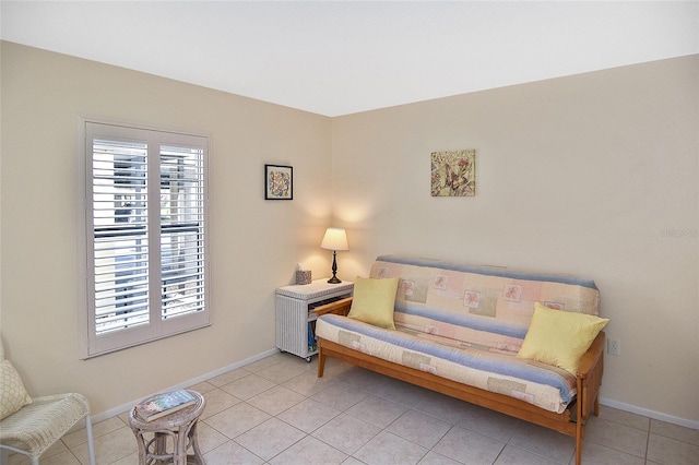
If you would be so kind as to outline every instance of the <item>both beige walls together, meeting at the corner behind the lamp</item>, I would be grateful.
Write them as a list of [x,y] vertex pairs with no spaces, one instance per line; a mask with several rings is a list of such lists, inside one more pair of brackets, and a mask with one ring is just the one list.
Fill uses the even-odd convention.
[[[699,57],[334,119],[7,43],[1,58],[0,324],[35,393],[100,413],[273,348],[274,288],[299,261],[327,274],[332,214],[345,279],[381,253],[593,277],[621,342],[605,401],[699,421]],[[213,326],[78,359],[80,115],[211,134]],[[477,195],[433,199],[429,154],[453,148],[476,148]],[[262,200],[270,162],[294,166],[293,202]]]

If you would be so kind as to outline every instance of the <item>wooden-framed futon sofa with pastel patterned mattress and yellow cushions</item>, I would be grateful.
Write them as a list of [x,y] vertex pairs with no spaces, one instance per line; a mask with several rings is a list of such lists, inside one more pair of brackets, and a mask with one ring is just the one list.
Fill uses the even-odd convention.
[[[392,294],[392,295],[391,295]],[[379,257],[354,297],[316,309],[327,357],[576,438],[599,414],[604,332],[591,279]]]

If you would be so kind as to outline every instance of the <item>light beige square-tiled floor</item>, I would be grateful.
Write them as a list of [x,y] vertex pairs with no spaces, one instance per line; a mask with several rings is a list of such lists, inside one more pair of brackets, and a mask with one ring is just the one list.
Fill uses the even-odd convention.
[[[199,443],[209,465],[572,464],[572,438],[328,359],[276,354],[191,386],[206,398]],[[127,414],[94,425],[97,465],[135,465]],[[14,455],[10,464],[24,465]],[[87,463],[84,429],[43,465]],[[699,464],[699,430],[601,407],[583,464]]]

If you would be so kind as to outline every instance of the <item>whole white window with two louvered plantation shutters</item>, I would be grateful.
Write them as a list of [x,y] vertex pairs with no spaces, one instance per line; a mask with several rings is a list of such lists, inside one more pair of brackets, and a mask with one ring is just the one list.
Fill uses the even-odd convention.
[[83,355],[210,324],[205,136],[84,122]]

